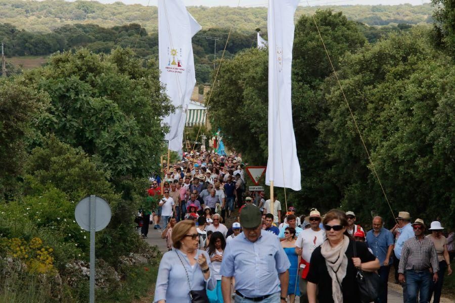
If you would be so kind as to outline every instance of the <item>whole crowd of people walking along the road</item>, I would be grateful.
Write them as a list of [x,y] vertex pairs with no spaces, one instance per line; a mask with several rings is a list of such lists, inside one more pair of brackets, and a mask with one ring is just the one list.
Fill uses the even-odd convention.
[[148,190],[157,209],[143,211],[169,250],[155,302],[361,302],[361,270],[379,275],[374,301],[383,303],[392,266],[404,303],[440,300],[454,241],[438,221],[427,227],[399,212],[392,228],[374,217],[365,232],[352,211],[298,216],[277,197],[271,207],[263,192],[246,190],[240,154],[185,153],[163,166],[166,177],[153,178]]

